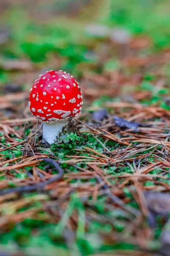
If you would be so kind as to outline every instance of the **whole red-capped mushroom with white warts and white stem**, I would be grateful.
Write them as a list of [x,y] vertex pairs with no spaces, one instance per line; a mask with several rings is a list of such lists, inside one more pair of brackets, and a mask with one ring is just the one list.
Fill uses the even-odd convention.
[[82,108],[79,83],[66,72],[47,71],[34,81],[30,89],[31,113],[43,123],[42,138],[54,143],[70,116],[78,116]]

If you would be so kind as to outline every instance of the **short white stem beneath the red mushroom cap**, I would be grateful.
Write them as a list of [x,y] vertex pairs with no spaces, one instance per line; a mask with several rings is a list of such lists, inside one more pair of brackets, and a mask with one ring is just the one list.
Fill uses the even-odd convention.
[[67,124],[68,121],[57,122],[53,124],[43,123],[42,142],[44,142],[45,140],[48,144],[54,143],[56,137],[59,135],[60,132],[62,132],[62,127]]

